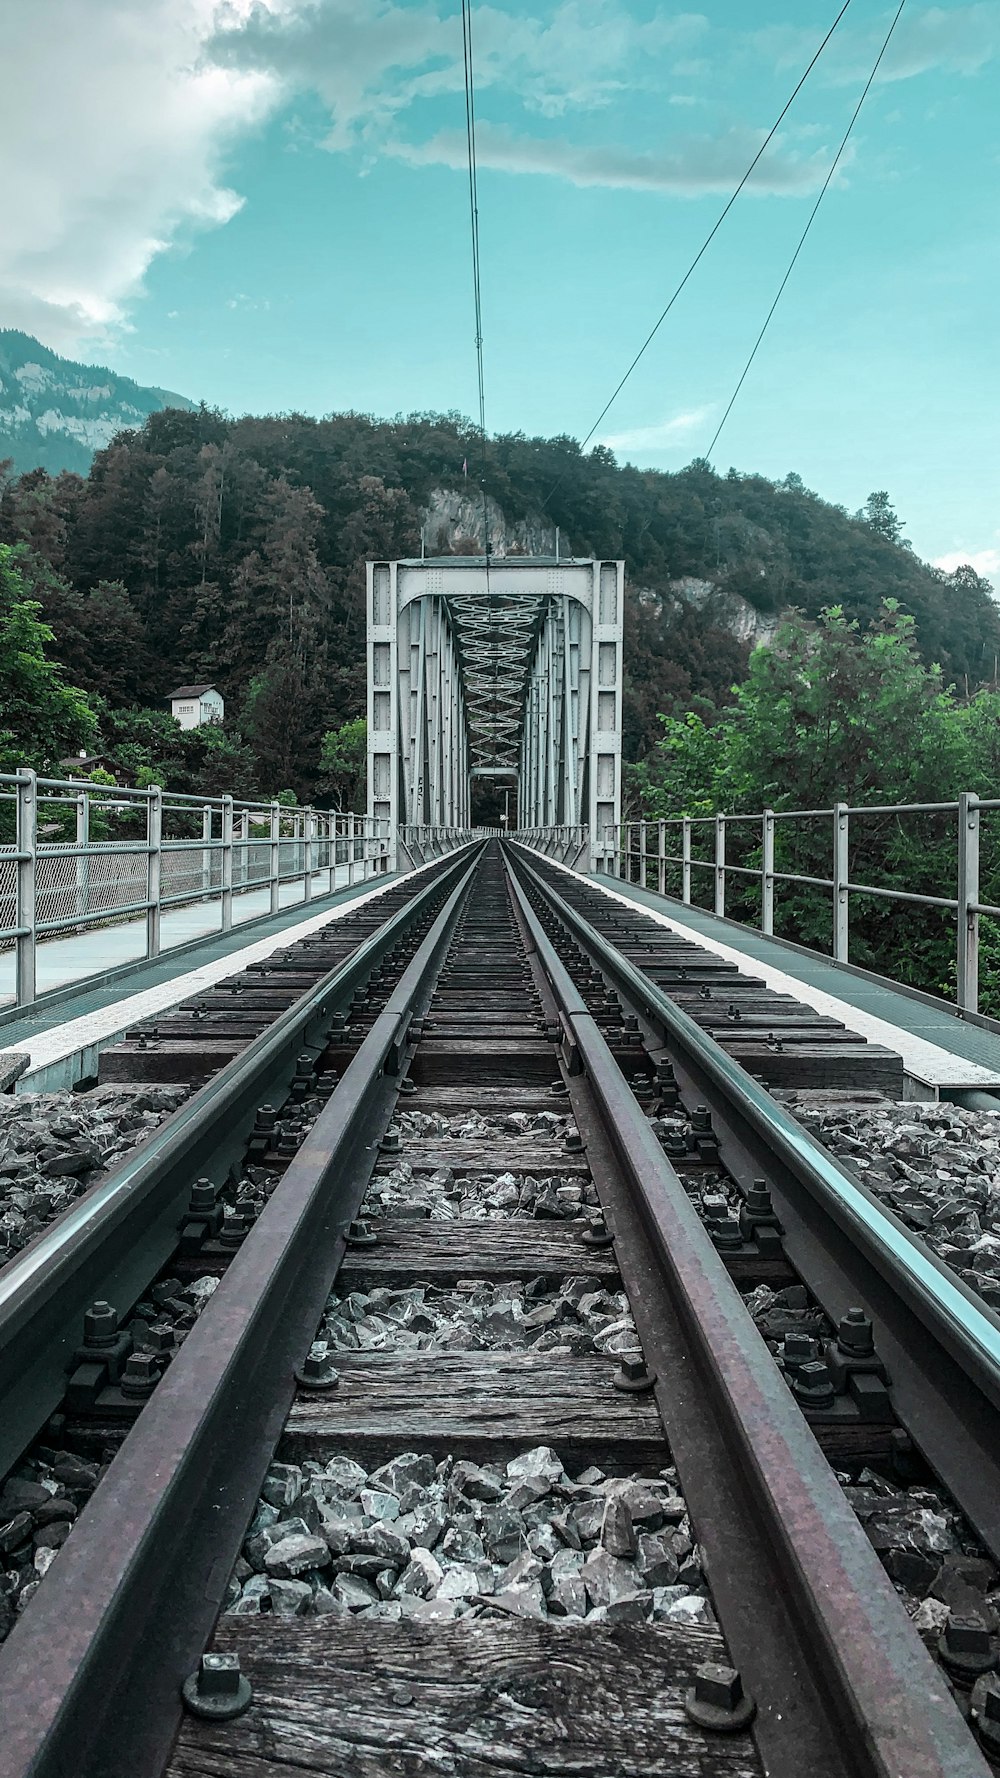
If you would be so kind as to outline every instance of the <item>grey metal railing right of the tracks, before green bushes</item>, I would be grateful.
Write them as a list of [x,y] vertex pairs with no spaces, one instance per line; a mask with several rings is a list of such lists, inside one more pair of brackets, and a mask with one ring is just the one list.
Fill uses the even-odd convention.
[[[851,962],[851,905],[852,898],[872,896],[891,903],[925,909],[945,909],[956,916],[956,999],[963,1012],[979,1010],[979,919],[982,914],[1000,919],[1000,907],[980,901],[980,814],[1000,809],[1000,798],[963,793],[957,802],[861,804],[851,807],[838,802],[833,809],[760,809],[754,814],[667,816],[662,821],[623,821],[616,829],[617,877],[667,894],[667,868],[680,868],[680,900],[692,903],[692,873],[708,871],[712,878],[712,912],[726,916],[726,887],[730,877],[751,878],[760,885],[760,923],[756,930],[774,935],[774,896],[779,884],[799,884],[831,893],[831,955],[835,962]],[[854,882],[851,871],[851,823],[870,816],[938,816],[952,825],[950,882],[954,894],[916,894],[891,884]],[[774,841],[778,823],[827,821],[829,877],[811,877],[778,869]],[[749,827],[758,862],[737,864],[726,857],[726,839],[731,829]],[[710,832],[710,857],[692,852],[696,830]],[[667,836],[680,832],[680,852],[667,852]],[[649,880],[653,878],[653,880]],[[742,917],[742,916],[740,916]]]

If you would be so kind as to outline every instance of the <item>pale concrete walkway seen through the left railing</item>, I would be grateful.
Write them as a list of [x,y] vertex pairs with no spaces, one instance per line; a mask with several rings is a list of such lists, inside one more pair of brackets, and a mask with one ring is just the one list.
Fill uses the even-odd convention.
[[[347,885],[347,864],[336,866],[336,889]],[[384,882],[370,878],[370,882]],[[365,887],[358,878],[358,887]],[[329,871],[317,871],[311,882],[313,900],[329,894]],[[306,909],[304,884],[290,882],[279,885],[281,907]],[[270,889],[247,889],[233,894],[233,926],[246,926],[249,921],[270,916]],[[190,901],[187,907],[164,909],[160,916],[160,951],[174,951],[181,944],[212,937],[222,932],[222,903]],[[36,990],[50,994],[73,981],[85,981],[91,976],[103,976],[126,964],[146,960],[146,919],[123,919],[116,926],[91,926],[66,939],[39,939],[36,949]],[[0,955],[0,1008],[12,1006],[14,951]],[[2,1028],[0,1028],[2,1033]]]

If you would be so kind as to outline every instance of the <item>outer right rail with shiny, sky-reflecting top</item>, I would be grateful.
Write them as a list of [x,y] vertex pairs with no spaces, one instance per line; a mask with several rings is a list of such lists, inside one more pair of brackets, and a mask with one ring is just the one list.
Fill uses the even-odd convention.
[[865,1305],[902,1424],[1000,1558],[1000,1316],[523,855],[518,866],[687,1070],[731,1175],[767,1177],[788,1261],[831,1319]]

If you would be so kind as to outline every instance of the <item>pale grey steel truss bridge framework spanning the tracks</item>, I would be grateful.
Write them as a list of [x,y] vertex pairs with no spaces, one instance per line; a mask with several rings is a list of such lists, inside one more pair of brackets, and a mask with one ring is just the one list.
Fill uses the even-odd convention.
[[368,814],[393,834],[466,829],[491,781],[511,827],[585,830],[589,868],[609,868],[623,599],[623,562],[368,562]]

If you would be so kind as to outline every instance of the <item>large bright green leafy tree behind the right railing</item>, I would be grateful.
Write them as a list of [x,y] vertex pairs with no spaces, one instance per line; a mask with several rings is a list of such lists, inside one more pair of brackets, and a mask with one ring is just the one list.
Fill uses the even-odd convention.
[[[819,624],[794,619],[756,649],[731,704],[705,718],[664,718],[657,759],[633,777],[642,814],[692,818],[874,804],[956,802],[996,795],[1000,693],[959,701],[916,653],[913,619],[897,601],[861,629],[842,610]],[[708,855],[710,829],[694,829]],[[760,829],[728,830],[728,861],[760,868]],[[831,877],[831,820],[778,821],[776,868]],[[698,846],[696,846],[696,855]],[[872,887],[954,896],[954,814],[852,814],[851,878]],[[701,880],[706,873],[696,873]],[[1000,834],[984,823],[982,896],[1000,901]],[[731,878],[735,917],[754,921],[760,891]],[[676,885],[674,885],[676,887]],[[778,930],[829,949],[829,891],[778,885]],[[954,914],[851,900],[851,955],[932,992],[954,985]],[[988,1006],[1000,1010],[988,983]]]

